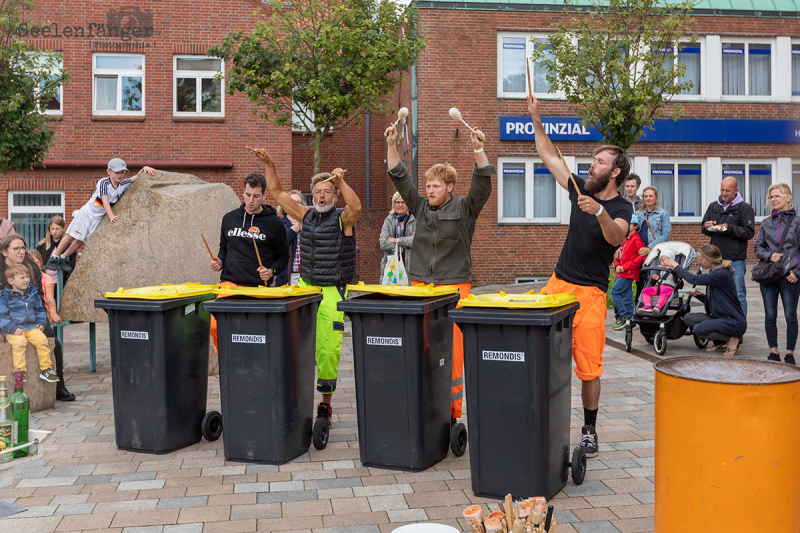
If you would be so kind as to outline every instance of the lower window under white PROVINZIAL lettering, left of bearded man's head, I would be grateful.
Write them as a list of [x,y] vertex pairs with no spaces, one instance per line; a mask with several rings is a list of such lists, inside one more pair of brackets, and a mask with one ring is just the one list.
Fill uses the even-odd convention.
[[508,159],[500,164],[501,222],[557,222],[560,189],[544,163]]

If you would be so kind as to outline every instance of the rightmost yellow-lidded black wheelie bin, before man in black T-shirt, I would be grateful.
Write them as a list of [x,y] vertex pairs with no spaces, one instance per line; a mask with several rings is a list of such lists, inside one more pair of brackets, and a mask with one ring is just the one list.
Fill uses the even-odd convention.
[[450,318],[464,334],[464,378],[472,491],[548,500],[572,466],[583,482],[586,457],[569,453],[572,294],[471,294]]

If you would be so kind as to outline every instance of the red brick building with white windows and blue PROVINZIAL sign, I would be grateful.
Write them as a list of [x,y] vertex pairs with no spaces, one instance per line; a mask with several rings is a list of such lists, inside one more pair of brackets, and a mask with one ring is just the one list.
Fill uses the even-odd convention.
[[[73,79],[64,88],[60,113],[53,117],[58,141],[47,168],[0,180],[0,195],[7,195],[12,219],[24,223],[28,217],[35,228],[33,221],[45,218],[45,207],[48,215],[56,212],[51,207],[58,207],[69,220],[112,156],[132,161],[132,166],[147,163],[225,181],[238,192],[244,175],[261,170],[243,147],[261,143],[276,157],[284,185],[308,191],[308,139],[265,125],[250,114],[252,106],[241,95],[215,97],[223,88],[209,80],[220,65],[202,58],[223,35],[252,27],[253,12],[260,9],[257,1],[167,6],[152,0],[136,8],[66,4],[69,10],[41,0],[33,14],[40,23],[60,24],[60,37],[29,38],[62,52]],[[567,232],[569,202],[536,158],[525,105],[525,58],[531,38],[546,37],[554,22],[566,20],[562,4],[418,0],[416,5],[427,48],[394,97],[398,108],[411,110],[401,128],[401,159],[420,186],[428,167],[449,161],[460,177],[456,194],[465,194],[474,158],[465,128],[448,116],[450,107],[461,109],[468,122],[489,136],[487,155],[498,165],[493,195],[475,234],[477,283],[546,276]],[[694,28],[699,41],[680,52],[675,49],[674,60],[687,65],[686,76],[696,86],[693,94],[675,97],[684,107],[684,119],[657,125],[631,149],[642,186],[656,185],[660,205],[671,213],[672,239],[695,246],[708,242],[699,222],[716,200],[724,176],[739,179],[740,192],[759,216],[766,213],[771,183],[800,186],[800,4],[742,0],[736,8],[726,0],[700,3]],[[138,22],[119,24],[120,17]],[[64,32],[66,26],[83,26],[88,33],[92,22],[153,30],[128,35],[127,41],[98,37],[96,27],[93,37],[67,37]],[[113,57],[102,59],[107,55]],[[142,58],[143,72],[122,68],[132,64],[120,58],[131,56]],[[106,70],[109,65],[113,68]],[[181,73],[184,68],[194,70]],[[538,65],[532,65],[531,74],[551,138],[570,167],[584,171],[597,146],[596,135],[576,126],[574,106],[548,92]],[[111,110],[112,82],[106,80],[114,76],[118,91]],[[130,80],[137,77],[143,87],[141,108],[123,109],[138,105],[129,96],[130,86],[140,83]],[[209,103],[209,109],[198,111],[195,105],[192,110],[193,95],[203,95],[202,105]],[[323,168],[347,168],[348,182],[364,205],[357,235],[358,274],[365,281],[379,275],[378,234],[394,191],[385,172],[383,129],[389,123],[387,117],[373,116],[366,124],[330,135],[323,144]],[[59,206],[48,205],[56,197]]]

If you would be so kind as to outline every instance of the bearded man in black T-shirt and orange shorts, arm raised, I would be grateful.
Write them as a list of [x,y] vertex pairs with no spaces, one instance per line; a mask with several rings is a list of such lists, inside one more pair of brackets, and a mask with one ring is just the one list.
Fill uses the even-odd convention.
[[582,382],[581,448],[587,457],[596,457],[608,271],[614,251],[628,234],[633,215],[631,203],[620,196],[617,188],[630,172],[630,161],[618,146],[599,147],[594,152],[589,179],[573,174],[579,188],[576,191],[569,171],[544,131],[539,101],[533,96],[528,96],[528,112],[533,119],[536,151],[558,184],[567,190],[572,203],[567,238],[544,292],[572,293],[581,306],[572,323],[572,358],[575,374]]

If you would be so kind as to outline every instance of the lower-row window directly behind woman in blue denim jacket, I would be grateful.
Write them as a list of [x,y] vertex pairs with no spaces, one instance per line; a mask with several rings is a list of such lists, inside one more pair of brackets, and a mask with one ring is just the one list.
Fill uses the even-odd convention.
[[703,164],[653,162],[650,181],[658,190],[658,206],[670,217],[703,216]]

